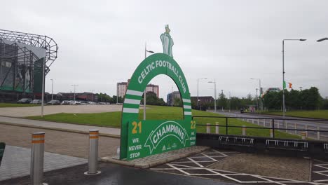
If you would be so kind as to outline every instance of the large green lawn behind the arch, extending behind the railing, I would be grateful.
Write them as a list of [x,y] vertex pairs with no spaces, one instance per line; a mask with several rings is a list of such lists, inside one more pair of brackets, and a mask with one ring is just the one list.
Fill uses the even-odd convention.
[[[146,119],[147,120],[182,120],[183,119],[183,109],[181,107],[160,107],[160,106],[147,106],[149,109],[146,109]],[[192,110],[193,116],[222,116],[220,114],[214,114],[205,111]],[[143,119],[143,110],[139,111],[139,119]],[[121,126],[121,112],[104,112],[104,113],[95,113],[95,114],[52,114],[46,115],[41,118],[41,116],[31,116],[27,117],[30,119],[44,120],[44,121],[56,121],[62,123],[75,123],[75,124],[87,124],[87,125],[99,125],[119,128]],[[225,118],[195,118],[197,124],[206,124],[211,123],[215,125],[216,122],[219,122],[219,125],[226,125]],[[261,127],[252,123],[247,123],[245,121],[240,121],[238,119],[229,118],[228,125],[233,126],[251,126],[251,127]],[[263,127],[261,127],[263,128]],[[206,132],[205,126],[197,126],[197,132]],[[211,128],[211,132],[215,132],[215,128]],[[226,134],[226,128],[219,128],[220,134]],[[270,130],[268,129],[255,129],[247,128],[247,136],[256,136],[256,137],[270,137]],[[242,128],[228,128],[229,135],[242,135]],[[275,137],[280,138],[291,138],[291,139],[300,139],[301,137],[297,135],[290,135],[285,132],[275,132]]]

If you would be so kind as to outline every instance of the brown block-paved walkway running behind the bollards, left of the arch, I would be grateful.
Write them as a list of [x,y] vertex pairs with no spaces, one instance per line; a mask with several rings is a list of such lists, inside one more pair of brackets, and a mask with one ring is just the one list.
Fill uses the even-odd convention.
[[[33,132],[46,132],[45,151],[65,156],[88,158],[89,137],[81,133],[0,124],[0,142],[5,142],[11,146],[31,148],[31,134]],[[100,136],[99,156],[114,155],[118,146],[120,146],[120,139]]]

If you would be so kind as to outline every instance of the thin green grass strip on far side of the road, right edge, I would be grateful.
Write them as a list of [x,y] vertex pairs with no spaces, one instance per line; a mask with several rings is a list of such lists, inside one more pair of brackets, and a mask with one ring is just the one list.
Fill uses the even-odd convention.
[[[282,116],[282,111],[263,111],[262,114],[280,115]],[[287,111],[286,116],[296,116],[303,118],[323,118],[328,119],[328,110],[318,110],[318,111]]]

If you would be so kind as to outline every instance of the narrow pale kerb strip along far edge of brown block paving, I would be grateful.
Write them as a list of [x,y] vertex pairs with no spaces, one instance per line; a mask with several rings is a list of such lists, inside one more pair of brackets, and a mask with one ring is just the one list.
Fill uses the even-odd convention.
[[[73,132],[77,134],[84,134],[89,135],[89,131],[80,131],[80,130],[70,130],[70,129],[64,129],[64,128],[48,128],[48,127],[42,127],[42,126],[34,126],[34,125],[24,125],[20,123],[7,123],[7,122],[0,122],[0,125],[11,125],[11,126],[18,126],[18,127],[25,127],[25,128],[39,128],[39,129],[45,129],[45,130],[55,130],[55,131],[62,131],[62,132]],[[99,134],[102,137],[113,137],[113,138],[121,138],[119,135],[109,135],[100,133]]]

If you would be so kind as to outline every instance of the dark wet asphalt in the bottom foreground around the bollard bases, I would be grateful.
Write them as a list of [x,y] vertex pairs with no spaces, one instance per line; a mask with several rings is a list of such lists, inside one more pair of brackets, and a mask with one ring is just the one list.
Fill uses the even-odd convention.
[[[215,181],[211,179],[202,179],[197,177],[187,177],[179,174],[169,174],[163,172],[155,172],[151,170],[142,170],[135,167],[125,167],[122,165],[115,165],[111,163],[99,163],[99,168],[102,173],[97,175],[85,175],[83,172],[88,170],[88,165],[78,165],[75,167],[69,167],[62,170],[54,170],[46,172],[44,182],[48,184],[117,184],[117,185],[141,185],[141,184],[179,184],[179,185],[193,185],[193,184],[221,184],[228,185],[222,181]],[[17,179],[11,179],[7,181],[0,181],[1,185],[12,184],[29,184],[29,177],[20,177]]]

